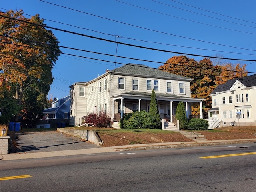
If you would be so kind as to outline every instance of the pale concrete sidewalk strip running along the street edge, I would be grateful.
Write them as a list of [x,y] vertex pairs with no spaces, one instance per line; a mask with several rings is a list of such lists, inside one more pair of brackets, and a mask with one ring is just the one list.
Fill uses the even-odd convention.
[[126,145],[126,146],[87,148],[87,149],[77,149],[77,150],[60,150],[60,151],[34,152],[34,153],[21,152],[21,153],[11,153],[11,154],[0,155],[0,160],[5,161],[5,160],[46,158],[46,157],[58,157],[58,156],[71,156],[71,155],[86,155],[86,154],[130,151],[130,150],[184,148],[184,147],[193,147],[193,146],[213,146],[213,145],[238,144],[238,143],[249,143],[249,142],[256,142],[256,139],[135,144],[135,145]]

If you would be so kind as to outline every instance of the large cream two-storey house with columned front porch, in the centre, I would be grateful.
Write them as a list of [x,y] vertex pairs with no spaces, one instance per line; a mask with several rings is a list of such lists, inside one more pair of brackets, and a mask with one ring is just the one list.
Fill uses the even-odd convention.
[[104,111],[112,120],[119,121],[123,114],[149,111],[152,89],[156,93],[161,118],[176,114],[179,102],[184,102],[186,114],[191,118],[191,104],[202,101],[191,98],[192,79],[139,64],[126,64],[107,70],[88,82],[70,86],[70,126],[81,126],[82,117],[90,112]]

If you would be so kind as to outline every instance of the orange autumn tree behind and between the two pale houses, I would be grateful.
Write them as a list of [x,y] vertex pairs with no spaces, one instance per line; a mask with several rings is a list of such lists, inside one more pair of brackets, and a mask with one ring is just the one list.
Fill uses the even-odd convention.
[[[159,69],[193,79],[190,86],[191,97],[206,99],[203,102],[203,113],[206,117],[208,110],[212,107],[210,93],[218,84],[223,84],[228,79],[238,76],[239,72],[244,72],[245,65],[242,67],[239,64],[235,67],[232,64],[214,66],[209,58],[197,62],[181,55],[168,59],[164,65],[159,66]],[[247,73],[243,73],[243,76],[246,75]],[[192,105],[192,114],[200,114],[199,104]]]

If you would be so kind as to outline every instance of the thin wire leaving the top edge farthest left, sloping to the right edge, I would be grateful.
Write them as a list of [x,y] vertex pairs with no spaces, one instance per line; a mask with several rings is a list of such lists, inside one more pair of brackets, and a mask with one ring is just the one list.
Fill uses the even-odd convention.
[[[170,33],[166,33],[166,32],[161,32],[161,31],[158,31],[158,30],[153,30],[153,29],[149,29],[149,28],[145,28],[145,27],[140,27],[140,26],[128,24],[128,23],[125,23],[125,22],[120,22],[120,21],[117,21],[117,20],[105,18],[105,17],[102,17],[102,16],[86,13],[86,12],[79,11],[79,10],[72,9],[72,8],[68,8],[68,7],[65,7],[65,6],[60,6],[58,4],[46,2],[46,1],[43,1],[43,0],[39,0],[39,1],[42,1],[42,2],[45,2],[45,3],[48,3],[48,4],[52,4],[52,5],[55,5],[55,6],[59,6],[59,7],[62,7],[62,8],[70,9],[70,10],[73,10],[73,11],[81,12],[81,13],[84,13],[84,14],[88,14],[88,15],[91,15],[91,16],[95,16],[95,17],[98,17],[98,18],[103,18],[103,19],[106,19],[106,20],[118,22],[118,23],[121,23],[121,24],[129,25],[129,26],[133,26],[133,27],[137,27],[137,28],[141,28],[141,29],[145,29],[145,30],[150,30],[150,31],[153,31],[153,32],[158,32],[158,33],[167,34],[167,35],[171,35],[171,36],[176,36],[176,37],[180,37],[180,38],[186,38],[186,39],[195,40],[195,41],[204,42],[204,43],[210,43],[210,44],[215,44],[215,45],[220,45],[220,46],[227,46],[227,47],[232,47],[232,48],[238,48],[238,47],[234,47],[234,46],[228,46],[228,45],[223,45],[223,44],[218,44],[218,43],[198,40],[198,39],[194,39],[194,38],[188,38],[188,37],[183,37],[183,36],[179,36],[179,35],[174,35],[174,34],[170,34]],[[239,49],[241,49],[241,48],[239,48]],[[244,49],[244,50],[250,50],[250,49]],[[256,51],[256,50],[250,50],[250,51]]]

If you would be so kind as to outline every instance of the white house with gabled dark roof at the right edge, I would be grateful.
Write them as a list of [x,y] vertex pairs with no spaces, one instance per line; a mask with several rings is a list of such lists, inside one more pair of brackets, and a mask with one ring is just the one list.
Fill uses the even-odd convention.
[[256,125],[256,75],[228,80],[210,94],[212,127]]

